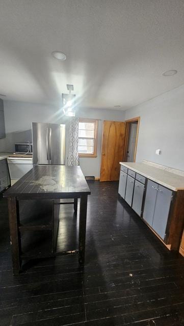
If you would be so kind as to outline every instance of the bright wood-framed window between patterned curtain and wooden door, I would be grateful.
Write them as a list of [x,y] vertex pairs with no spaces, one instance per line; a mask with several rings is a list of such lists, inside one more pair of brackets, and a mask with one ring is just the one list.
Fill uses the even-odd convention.
[[96,157],[98,120],[80,119],[78,123],[78,155]]

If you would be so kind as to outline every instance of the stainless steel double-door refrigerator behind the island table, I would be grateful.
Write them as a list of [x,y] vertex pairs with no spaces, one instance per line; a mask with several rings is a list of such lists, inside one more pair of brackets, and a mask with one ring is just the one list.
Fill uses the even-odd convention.
[[65,125],[32,123],[33,164],[65,164]]

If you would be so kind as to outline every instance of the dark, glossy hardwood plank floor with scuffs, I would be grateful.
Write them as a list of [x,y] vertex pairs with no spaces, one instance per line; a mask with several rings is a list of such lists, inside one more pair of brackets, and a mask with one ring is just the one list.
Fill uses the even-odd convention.
[[[118,196],[118,182],[89,182],[86,264],[35,260],[12,275],[8,211],[0,200],[0,325],[184,325],[184,258],[169,252]],[[77,249],[73,207],[61,207],[59,250]]]

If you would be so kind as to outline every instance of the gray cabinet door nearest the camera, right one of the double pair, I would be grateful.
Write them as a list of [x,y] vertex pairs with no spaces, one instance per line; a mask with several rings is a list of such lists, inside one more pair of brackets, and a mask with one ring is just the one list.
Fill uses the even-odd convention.
[[161,236],[162,239],[164,239],[166,233],[171,199],[172,191],[163,187],[162,185],[159,185],[154,209],[152,228],[157,234]]

